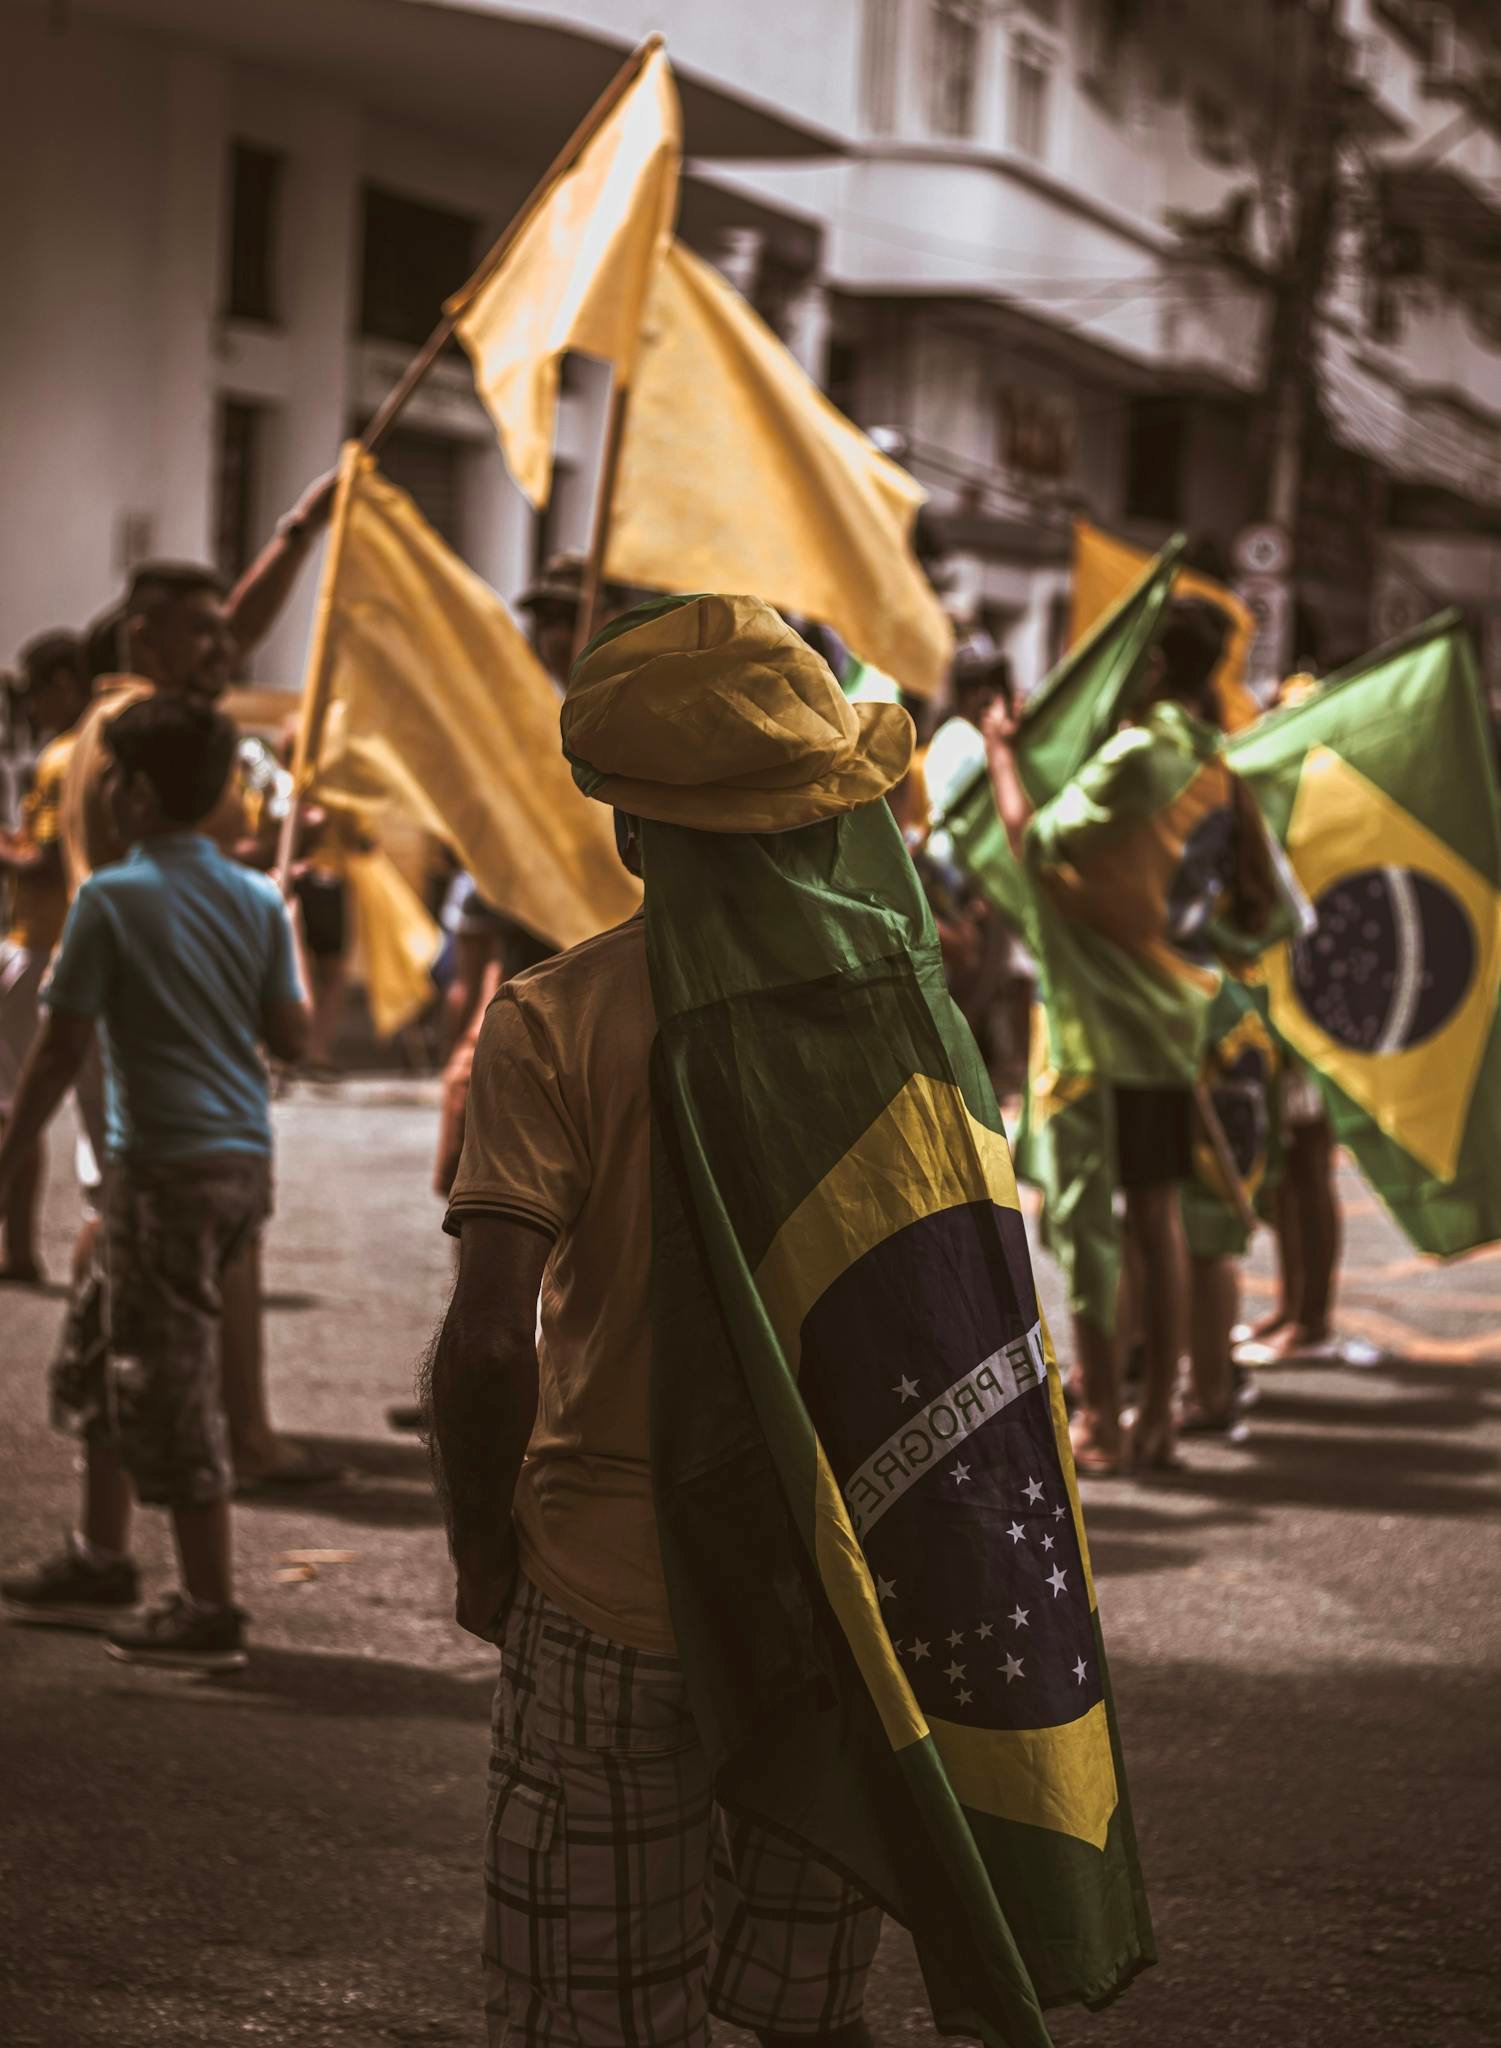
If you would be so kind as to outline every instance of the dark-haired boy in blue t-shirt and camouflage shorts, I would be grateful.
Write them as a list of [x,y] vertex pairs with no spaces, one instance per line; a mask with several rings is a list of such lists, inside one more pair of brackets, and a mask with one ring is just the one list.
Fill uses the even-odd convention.
[[[270,1210],[262,1047],[299,1059],[309,1010],[274,883],[197,829],[225,786],[233,725],[158,692],[113,719],[104,743],[131,854],[74,899],[0,1143],[2,1202],[98,1022],[104,1341],[72,1348],[53,1376],[53,1407],[86,1444],[84,1513],[68,1552],[2,1581],[0,1599],[23,1620],[109,1628],[125,1663],[235,1671],[246,1616],[233,1604],[221,1278]],[[182,1565],[182,1593],[135,1622],[131,1493],[170,1511]]]

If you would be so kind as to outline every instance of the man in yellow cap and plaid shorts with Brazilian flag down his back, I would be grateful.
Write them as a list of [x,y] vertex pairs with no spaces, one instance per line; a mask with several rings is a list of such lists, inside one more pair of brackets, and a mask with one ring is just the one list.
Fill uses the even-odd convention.
[[991,2048],[1153,1960],[1012,1161],[881,801],[911,739],[756,598],[573,670],[645,911],[487,1014],[432,1366],[502,1645],[491,2042],[854,2048],[883,1909]]

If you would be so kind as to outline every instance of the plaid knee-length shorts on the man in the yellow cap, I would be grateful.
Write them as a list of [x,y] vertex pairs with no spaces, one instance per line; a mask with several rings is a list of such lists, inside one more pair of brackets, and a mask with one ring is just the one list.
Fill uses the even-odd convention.
[[485,1831],[489,2044],[706,2048],[860,2017],[881,1909],[713,1800],[682,1665],[526,1579],[506,1618]]

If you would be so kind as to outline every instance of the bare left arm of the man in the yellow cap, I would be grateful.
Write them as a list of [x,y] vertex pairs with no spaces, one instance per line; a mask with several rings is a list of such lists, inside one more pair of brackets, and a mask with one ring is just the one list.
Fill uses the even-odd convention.
[[537,1294],[553,1249],[512,1217],[473,1214],[459,1237],[459,1280],[432,1354],[432,1468],[457,1618],[496,1640],[516,1583],[512,1499],[537,1421]]

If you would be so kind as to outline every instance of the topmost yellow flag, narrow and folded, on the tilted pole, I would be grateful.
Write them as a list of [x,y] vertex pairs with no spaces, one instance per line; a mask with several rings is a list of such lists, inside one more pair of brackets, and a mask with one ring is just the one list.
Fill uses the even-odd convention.
[[655,51],[479,291],[446,305],[506,465],[534,506],[553,483],[559,356],[577,348],[631,381],[680,164],[678,88]]

